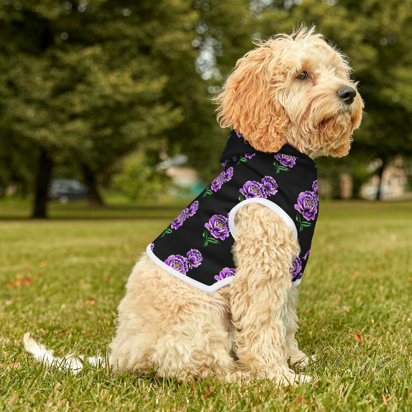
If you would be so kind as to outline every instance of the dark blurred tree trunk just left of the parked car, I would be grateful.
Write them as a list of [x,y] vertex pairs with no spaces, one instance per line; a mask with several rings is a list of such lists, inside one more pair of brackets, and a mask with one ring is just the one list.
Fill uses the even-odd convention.
[[50,177],[52,176],[52,169],[53,160],[49,157],[47,152],[42,149],[35,180],[35,201],[32,214],[33,219],[47,218],[47,190],[49,188]]

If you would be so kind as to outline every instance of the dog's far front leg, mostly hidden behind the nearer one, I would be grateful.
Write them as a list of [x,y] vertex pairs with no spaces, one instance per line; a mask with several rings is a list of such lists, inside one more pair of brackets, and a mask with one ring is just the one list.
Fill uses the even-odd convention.
[[286,356],[290,358],[290,365],[296,364],[300,368],[304,368],[309,361],[307,355],[299,350],[295,333],[299,326],[297,325],[296,303],[299,296],[297,287],[292,286],[288,291],[288,300],[286,302],[286,310],[283,315],[283,324],[286,329]]

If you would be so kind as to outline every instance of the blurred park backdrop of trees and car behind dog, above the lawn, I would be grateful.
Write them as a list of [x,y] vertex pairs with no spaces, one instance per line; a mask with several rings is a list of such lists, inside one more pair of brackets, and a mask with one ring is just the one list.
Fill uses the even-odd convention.
[[367,113],[317,160],[321,196],[411,199],[410,0],[0,0],[0,217],[194,197],[229,133],[210,98],[301,22],[349,56]]

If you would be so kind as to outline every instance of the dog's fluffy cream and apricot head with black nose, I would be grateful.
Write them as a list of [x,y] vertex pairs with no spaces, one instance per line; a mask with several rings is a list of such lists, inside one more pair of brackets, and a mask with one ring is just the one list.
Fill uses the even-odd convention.
[[263,152],[288,143],[313,158],[345,156],[363,109],[350,73],[315,28],[259,41],[215,97],[218,121]]

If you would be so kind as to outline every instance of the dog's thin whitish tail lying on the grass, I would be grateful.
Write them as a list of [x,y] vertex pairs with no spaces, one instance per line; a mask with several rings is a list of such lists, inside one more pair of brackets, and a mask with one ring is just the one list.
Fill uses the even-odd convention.
[[[70,370],[73,375],[76,375],[83,368],[84,356],[68,355],[63,358],[53,356],[54,351],[47,349],[46,346],[37,343],[27,332],[23,336],[24,349],[35,358],[37,362],[59,370]],[[92,356],[87,358],[87,361],[94,366],[105,366],[105,359],[101,356]]]

